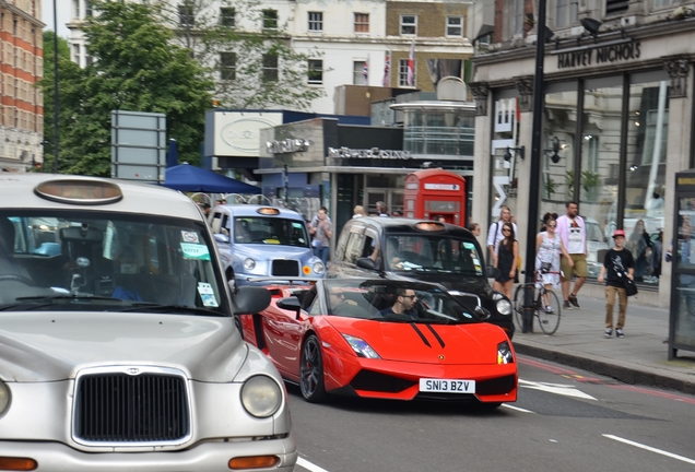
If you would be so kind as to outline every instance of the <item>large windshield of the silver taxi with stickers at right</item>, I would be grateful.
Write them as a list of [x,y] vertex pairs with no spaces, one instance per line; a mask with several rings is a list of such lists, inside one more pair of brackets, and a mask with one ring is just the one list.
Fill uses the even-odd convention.
[[103,211],[0,212],[0,243],[12,241],[0,244],[0,310],[176,306],[224,315],[203,225]]

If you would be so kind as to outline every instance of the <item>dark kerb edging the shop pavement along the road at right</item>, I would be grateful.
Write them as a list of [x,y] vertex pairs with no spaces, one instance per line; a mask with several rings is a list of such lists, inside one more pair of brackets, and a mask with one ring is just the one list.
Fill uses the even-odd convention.
[[[645,367],[616,365],[599,358],[592,358],[586,354],[575,354],[526,342],[511,341],[518,354],[552,361],[558,364],[577,367],[584,370],[612,377],[624,384],[657,387],[674,390],[682,393],[695,394],[695,378],[693,380],[675,378],[657,371],[648,371]],[[620,363],[621,361],[616,361]]]

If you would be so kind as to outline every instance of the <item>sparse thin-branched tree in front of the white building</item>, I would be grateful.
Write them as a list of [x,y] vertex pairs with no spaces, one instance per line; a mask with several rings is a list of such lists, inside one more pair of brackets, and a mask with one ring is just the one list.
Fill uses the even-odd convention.
[[209,69],[221,106],[306,110],[325,94],[307,83],[308,61],[319,54],[297,52],[258,0],[160,1],[177,44]]

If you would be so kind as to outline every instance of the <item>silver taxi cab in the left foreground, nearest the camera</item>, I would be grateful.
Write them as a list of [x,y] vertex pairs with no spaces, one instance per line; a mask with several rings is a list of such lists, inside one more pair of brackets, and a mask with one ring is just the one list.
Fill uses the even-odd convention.
[[0,464],[292,471],[282,379],[243,342],[197,205],[152,185],[0,174]]

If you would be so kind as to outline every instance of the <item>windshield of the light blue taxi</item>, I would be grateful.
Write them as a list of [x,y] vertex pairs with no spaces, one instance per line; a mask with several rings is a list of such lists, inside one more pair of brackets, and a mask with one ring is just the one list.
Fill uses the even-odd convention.
[[309,247],[304,222],[264,216],[236,216],[234,243]]

